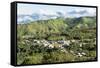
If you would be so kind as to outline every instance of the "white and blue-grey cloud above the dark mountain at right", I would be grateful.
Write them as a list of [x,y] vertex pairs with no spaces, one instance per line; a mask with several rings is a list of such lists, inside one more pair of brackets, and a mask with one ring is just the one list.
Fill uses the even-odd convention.
[[72,8],[67,12],[68,17],[95,16],[96,9],[88,7]]

